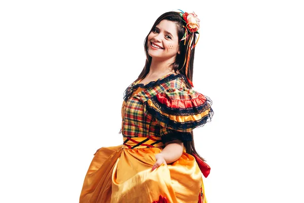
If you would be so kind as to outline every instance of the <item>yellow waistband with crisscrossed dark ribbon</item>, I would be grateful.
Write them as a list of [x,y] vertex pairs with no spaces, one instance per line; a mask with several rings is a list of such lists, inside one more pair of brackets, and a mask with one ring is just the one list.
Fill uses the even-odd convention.
[[142,137],[142,138],[131,138],[124,137],[124,145],[123,148],[127,149],[135,149],[135,148],[152,148],[152,147],[164,147],[165,144],[162,143],[161,137]]

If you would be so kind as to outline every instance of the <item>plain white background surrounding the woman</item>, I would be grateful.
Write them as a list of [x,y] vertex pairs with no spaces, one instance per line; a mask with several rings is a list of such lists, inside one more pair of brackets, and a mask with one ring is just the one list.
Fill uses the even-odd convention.
[[78,202],[95,151],[122,143],[123,92],[164,12],[196,12],[195,129],[209,203],[304,202],[301,1],[2,1],[0,202]]

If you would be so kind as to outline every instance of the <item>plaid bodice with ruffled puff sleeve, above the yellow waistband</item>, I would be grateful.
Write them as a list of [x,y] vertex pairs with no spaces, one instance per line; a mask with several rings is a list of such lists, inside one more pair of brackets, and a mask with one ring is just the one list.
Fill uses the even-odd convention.
[[145,85],[132,83],[122,106],[123,137],[190,141],[191,131],[211,120],[211,104],[208,97],[186,88],[180,74],[170,73]]

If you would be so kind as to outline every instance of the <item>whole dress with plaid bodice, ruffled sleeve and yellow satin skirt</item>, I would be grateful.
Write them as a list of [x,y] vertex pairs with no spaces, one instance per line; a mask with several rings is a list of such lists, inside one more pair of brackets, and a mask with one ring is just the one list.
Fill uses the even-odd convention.
[[151,168],[166,142],[191,141],[192,130],[212,115],[211,100],[186,88],[179,74],[132,83],[122,107],[124,144],[94,154],[80,203],[206,203],[206,175],[195,155],[183,152],[173,163]]

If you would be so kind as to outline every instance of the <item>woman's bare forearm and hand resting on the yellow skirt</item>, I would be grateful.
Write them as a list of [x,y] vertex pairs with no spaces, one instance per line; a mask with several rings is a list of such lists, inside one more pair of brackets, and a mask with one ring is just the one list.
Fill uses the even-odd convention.
[[160,165],[172,163],[180,158],[183,152],[183,144],[179,140],[166,143],[166,147],[159,154],[155,155],[156,162],[152,167],[152,171]]

